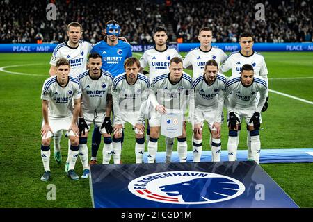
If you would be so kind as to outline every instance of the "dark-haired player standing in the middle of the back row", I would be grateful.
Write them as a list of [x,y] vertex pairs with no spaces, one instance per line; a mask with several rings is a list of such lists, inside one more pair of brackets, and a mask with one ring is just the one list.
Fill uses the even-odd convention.
[[[166,45],[168,40],[168,35],[166,34],[166,28],[163,26],[158,26],[154,28],[153,39],[155,42],[154,46],[151,46],[149,49],[143,53],[143,56],[140,59],[141,62],[141,71],[143,74],[147,74],[143,69],[149,66],[149,79],[150,83],[157,76],[163,74],[168,74],[170,72],[170,60],[174,57],[180,57],[177,49],[172,46]],[[150,104],[150,102],[148,102]],[[150,106],[147,106],[147,112],[149,111]],[[147,142],[149,141],[150,136],[150,126],[147,126]],[[174,139],[166,137],[166,162],[170,162],[172,156],[172,146],[174,144]]]

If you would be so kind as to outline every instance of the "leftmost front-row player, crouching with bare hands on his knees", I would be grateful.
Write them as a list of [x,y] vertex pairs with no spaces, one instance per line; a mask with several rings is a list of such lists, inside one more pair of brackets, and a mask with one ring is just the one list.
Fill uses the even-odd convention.
[[[81,84],[77,78],[68,76],[70,63],[61,58],[56,62],[56,76],[51,76],[42,87],[42,145],[41,158],[45,173],[40,178],[42,181],[50,179],[50,142],[54,133],[67,130],[70,139],[70,166],[67,176],[78,180],[79,176],[74,171],[79,153],[79,128],[77,117],[81,108]],[[72,100],[74,110],[72,112]]]

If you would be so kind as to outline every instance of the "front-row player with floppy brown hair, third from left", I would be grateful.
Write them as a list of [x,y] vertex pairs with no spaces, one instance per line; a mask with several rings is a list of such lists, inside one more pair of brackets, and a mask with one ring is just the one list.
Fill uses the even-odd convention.
[[137,58],[130,57],[124,62],[125,73],[113,80],[112,99],[114,114],[113,160],[120,163],[122,130],[125,123],[130,123],[136,133],[136,163],[143,162],[145,152],[145,128],[143,126],[149,79],[138,73],[141,65]]

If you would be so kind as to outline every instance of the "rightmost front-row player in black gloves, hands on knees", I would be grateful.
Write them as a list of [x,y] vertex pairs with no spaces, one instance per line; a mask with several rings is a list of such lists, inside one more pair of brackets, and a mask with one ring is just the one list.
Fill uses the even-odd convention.
[[[237,142],[241,119],[245,119],[251,137],[252,160],[259,164],[261,142],[259,139],[260,112],[266,101],[266,81],[261,76],[255,76],[252,65],[245,64],[241,74],[232,76],[226,83],[227,114],[229,137],[227,143],[228,159],[236,160]],[[257,101],[257,92],[260,94]]]

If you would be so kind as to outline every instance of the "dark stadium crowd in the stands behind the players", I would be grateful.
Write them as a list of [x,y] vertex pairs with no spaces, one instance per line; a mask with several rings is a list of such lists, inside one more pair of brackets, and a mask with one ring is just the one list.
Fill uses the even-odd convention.
[[[152,30],[172,26],[169,40],[198,42],[198,30],[209,26],[213,42],[238,42],[239,33],[255,33],[255,42],[312,42],[312,0],[264,1],[265,21],[255,19],[253,1],[16,1],[0,0],[0,42],[63,42],[66,24],[83,25],[83,39],[102,40],[108,19],[122,24],[131,44],[152,43]],[[47,20],[47,4],[56,4],[56,20]],[[171,30],[168,27],[169,31]]]

